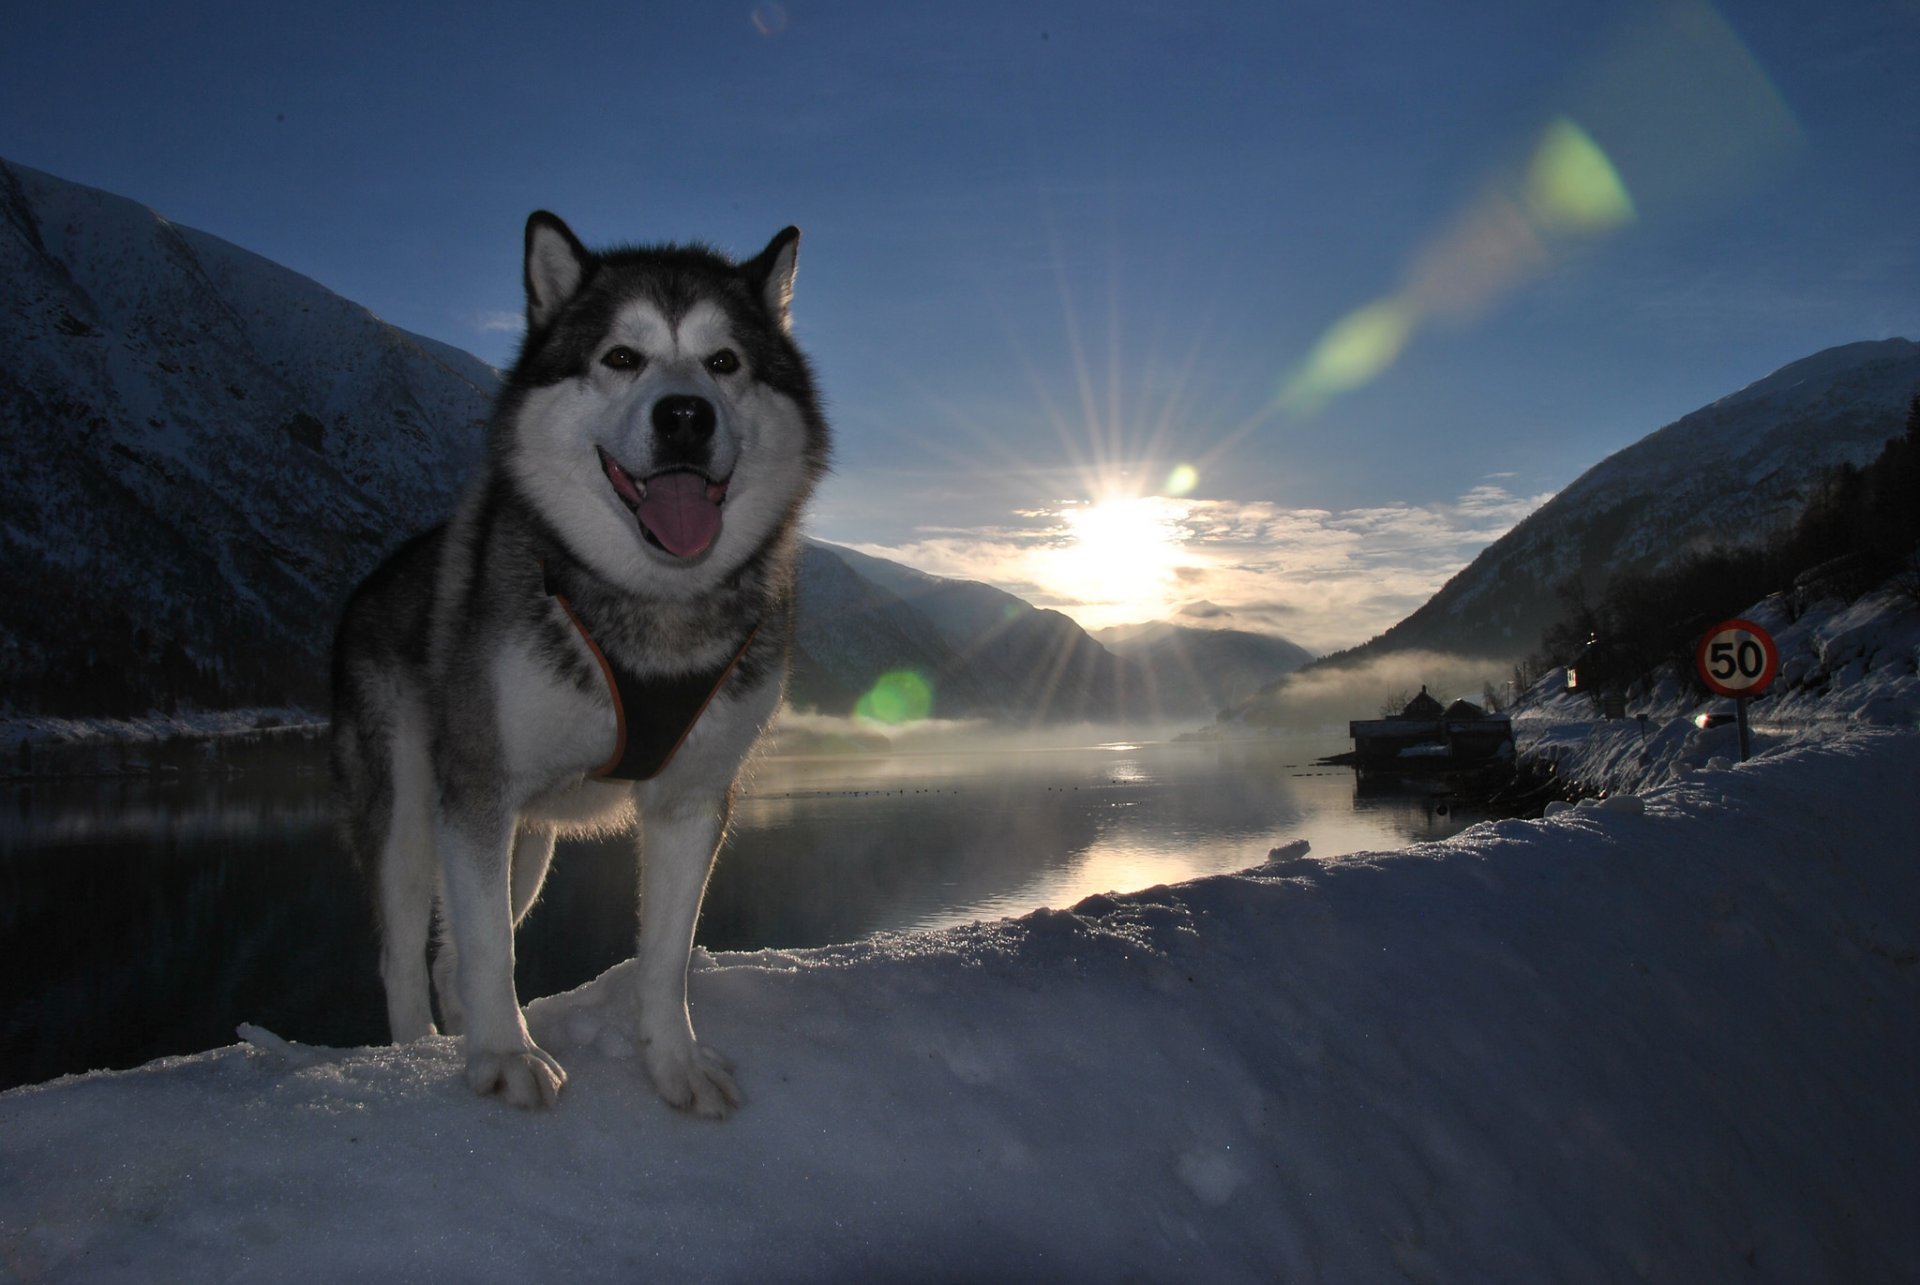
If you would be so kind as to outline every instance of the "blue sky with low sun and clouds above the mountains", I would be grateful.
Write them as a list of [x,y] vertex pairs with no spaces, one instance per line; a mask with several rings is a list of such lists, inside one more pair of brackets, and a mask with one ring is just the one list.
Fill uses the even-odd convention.
[[0,156],[505,365],[520,230],[803,229],[810,532],[1363,642],[1582,471],[1920,338],[1920,0],[69,4]]

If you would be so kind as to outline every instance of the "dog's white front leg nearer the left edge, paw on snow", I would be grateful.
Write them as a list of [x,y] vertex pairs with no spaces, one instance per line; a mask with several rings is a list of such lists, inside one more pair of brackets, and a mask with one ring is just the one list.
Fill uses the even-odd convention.
[[566,1072],[534,1043],[513,989],[513,816],[436,822],[467,1012],[467,1083],[515,1106],[553,1106]]

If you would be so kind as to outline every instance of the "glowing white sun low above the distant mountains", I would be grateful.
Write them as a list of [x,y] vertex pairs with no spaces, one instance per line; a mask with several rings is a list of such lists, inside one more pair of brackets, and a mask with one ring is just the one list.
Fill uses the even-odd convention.
[[1064,538],[1041,553],[1039,578],[1085,628],[1158,620],[1173,611],[1187,503],[1117,496],[1068,505]]

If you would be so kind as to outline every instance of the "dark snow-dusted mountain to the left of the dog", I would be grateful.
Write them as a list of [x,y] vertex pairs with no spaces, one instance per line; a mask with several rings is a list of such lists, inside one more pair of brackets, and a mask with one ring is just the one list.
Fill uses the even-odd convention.
[[497,376],[217,236],[0,161],[0,703],[319,701]]

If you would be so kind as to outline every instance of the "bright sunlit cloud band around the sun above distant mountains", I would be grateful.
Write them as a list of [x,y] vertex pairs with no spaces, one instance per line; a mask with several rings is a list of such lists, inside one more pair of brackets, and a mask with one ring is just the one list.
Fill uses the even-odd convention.
[[[1233,622],[1284,634],[1309,651],[1352,647],[1405,618],[1461,567],[1551,492],[1515,496],[1486,478],[1450,503],[1390,501],[1363,509],[1288,509],[1267,501],[1165,499],[1160,582],[1116,597],[1087,574],[1064,507],[1029,509],[1002,526],[924,532],[895,546],[856,546],[922,570],[985,580],[1087,628],[1148,618]],[[1094,592],[1098,590],[1098,592]]]

